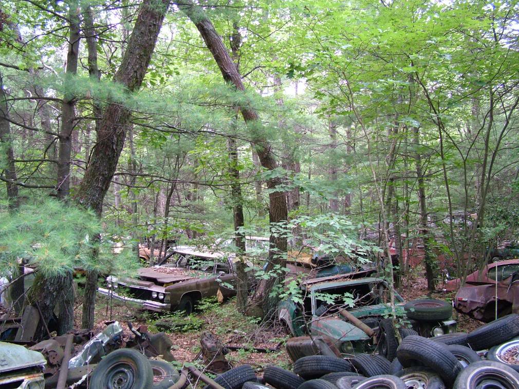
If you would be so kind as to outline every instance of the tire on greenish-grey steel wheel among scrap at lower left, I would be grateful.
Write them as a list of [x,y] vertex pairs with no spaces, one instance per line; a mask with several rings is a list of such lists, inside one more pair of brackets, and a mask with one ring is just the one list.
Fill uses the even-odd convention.
[[149,389],[152,385],[152,365],[132,349],[119,349],[101,359],[90,380],[92,389]]

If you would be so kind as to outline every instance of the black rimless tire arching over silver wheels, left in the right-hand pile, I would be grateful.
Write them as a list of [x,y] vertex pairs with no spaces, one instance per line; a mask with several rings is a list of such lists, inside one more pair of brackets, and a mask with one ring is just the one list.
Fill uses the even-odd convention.
[[447,346],[420,336],[408,336],[398,347],[397,358],[403,367],[416,366],[416,361],[431,368],[447,385],[452,385],[463,368]]

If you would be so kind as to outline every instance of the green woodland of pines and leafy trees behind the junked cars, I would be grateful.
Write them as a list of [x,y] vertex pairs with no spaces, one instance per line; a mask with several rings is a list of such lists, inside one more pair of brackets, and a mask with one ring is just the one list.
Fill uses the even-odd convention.
[[92,329],[107,276],[187,246],[232,257],[238,321],[303,303],[313,256],[373,266],[397,322],[398,293],[519,255],[493,254],[519,242],[518,37],[515,1],[2,2],[12,309]]

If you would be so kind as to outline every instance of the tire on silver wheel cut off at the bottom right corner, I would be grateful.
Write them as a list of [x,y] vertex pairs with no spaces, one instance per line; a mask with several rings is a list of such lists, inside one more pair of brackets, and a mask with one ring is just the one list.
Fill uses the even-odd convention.
[[[491,385],[493,382],[499,384]],[[486,386],[483,386],[484,383],[486,383]],[[490,360],[481,360],[467,366],[459,373],[453,389],[473,389],[475,387],[517,389],[519,387],[519,373],[507,365]]]

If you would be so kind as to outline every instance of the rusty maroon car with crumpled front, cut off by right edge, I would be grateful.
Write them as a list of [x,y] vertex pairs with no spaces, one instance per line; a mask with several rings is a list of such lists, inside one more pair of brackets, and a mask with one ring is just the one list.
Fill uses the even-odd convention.
[[453,305],[458,312],[485,323],[519,313],[519,259],[490,263],[483,277],[472,281],[477,273],[456,293]]

